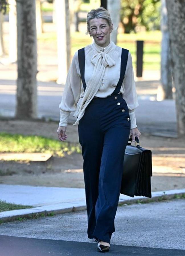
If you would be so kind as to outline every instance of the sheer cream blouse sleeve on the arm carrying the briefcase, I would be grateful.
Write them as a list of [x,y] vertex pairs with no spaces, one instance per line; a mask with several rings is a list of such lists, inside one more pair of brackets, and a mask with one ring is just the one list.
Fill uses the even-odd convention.
[[124,77],[123,84],[122,84],[123,90],[124,90],[123,98],[125,99],[129,109],[131,129],[133,129],[137,127],[134,109],[137,108],[139,104],[137,101],[137,93],[136,93],[133,66],[132,66],[132,57],[130,52],[128,54],[128,62],[127,62],[125,73],[126,75]]

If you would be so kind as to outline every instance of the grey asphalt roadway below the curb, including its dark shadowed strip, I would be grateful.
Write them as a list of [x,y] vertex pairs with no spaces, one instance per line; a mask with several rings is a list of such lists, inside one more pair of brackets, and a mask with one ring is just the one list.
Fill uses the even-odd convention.
[[[110,255],[185,255],[184,223],[184,199],[118,206]],[[1,256],[96,255],[96,243],[87,238],[86,211],[3,223],[0,229],[1,235],[15,236],[0,236],[1,250],[7,253]],[[79,243],[69,247],[67,241]],[[27,254],[30,248],[33,253]],[[10,250],[17,254],[8,254]],[[21,255],[22,250],[26,253]]]

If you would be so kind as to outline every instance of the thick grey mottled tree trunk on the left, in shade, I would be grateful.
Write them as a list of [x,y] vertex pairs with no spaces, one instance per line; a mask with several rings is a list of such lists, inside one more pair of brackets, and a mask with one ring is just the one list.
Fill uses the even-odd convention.
[[17,106],[16,117],[37,117],[37,41],[35,1],[17,1]]

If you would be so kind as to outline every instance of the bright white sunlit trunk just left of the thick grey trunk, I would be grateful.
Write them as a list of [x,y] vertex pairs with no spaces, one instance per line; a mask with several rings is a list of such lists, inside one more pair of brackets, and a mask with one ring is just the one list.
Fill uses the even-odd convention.
[[9,60],[17,61],[17,11],[16,1],[9,0]]

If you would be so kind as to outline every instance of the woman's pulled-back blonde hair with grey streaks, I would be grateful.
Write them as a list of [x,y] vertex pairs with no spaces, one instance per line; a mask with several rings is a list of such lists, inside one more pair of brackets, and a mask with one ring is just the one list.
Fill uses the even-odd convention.
[[108,22],[108,25],[112,26],[112,19],[110,17],[110,13],[104,8],[99,7],[97,9],[92,9],[89,13],[87,13],[87,33],[89,33],[89,21],[94,18],[102,18]]

